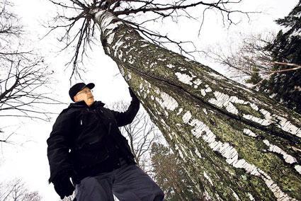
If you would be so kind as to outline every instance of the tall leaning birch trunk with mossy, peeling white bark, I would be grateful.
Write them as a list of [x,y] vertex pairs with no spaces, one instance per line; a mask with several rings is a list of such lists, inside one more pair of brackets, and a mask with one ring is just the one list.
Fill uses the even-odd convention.
[[108,11],[103,48],[204,200],[301,200],[301,116],[144,40]]

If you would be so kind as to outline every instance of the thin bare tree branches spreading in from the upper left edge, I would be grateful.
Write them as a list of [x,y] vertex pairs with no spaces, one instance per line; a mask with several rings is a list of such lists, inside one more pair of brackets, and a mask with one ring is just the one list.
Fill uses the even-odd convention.
[[[1,132],[9,117],[49,121],[53,113],[45,105],[62,104],[51,97],[47,85],[53,71],[35,50],[23,50],[23,27],[9,8],[10,1],[0,2],[0,121]],[[8,132],[9,133],[9,132]],[[11,134],[6,135],[11,137]],[[8,143],[8,137],[0,142]]]

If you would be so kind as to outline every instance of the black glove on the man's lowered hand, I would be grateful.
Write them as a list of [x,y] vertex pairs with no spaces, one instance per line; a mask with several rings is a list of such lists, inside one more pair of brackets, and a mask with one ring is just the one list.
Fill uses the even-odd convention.
[[70,181],[69,174],[59,176],[57,180],[53,181],[53,185],[55,185],[55,191],[57,192],[59,197],[61,197],[62,200],[65,196],[68,197],[69,195],[72,195],[73,191],[75,190],[74,186]]

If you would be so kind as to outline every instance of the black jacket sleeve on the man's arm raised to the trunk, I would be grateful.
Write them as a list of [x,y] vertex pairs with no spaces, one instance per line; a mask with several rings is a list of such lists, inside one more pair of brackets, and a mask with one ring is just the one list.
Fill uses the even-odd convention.
[[134,120],[140,108],[140,102],[137,98],[132,98],[130,106],[123,113],[113,111],[118,127],[128,125]]

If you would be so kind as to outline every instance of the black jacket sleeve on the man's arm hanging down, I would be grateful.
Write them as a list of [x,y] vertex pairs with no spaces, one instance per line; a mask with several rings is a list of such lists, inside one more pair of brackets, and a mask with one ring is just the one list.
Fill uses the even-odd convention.
[[50,164],[49,183],[57,176],[72,171],[72,163],[69,161],[69,149],[71,147],[70,136],[74,117],[68,112],[61,113],[52,127],[50,137],[47,139],[47,157]]

